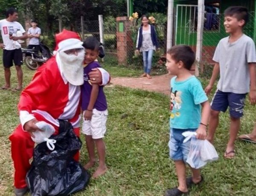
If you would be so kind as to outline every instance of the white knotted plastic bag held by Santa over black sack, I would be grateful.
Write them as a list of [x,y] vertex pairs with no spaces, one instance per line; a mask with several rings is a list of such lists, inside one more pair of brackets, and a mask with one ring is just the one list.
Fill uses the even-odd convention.
[[34,137],[31,137],[35,143],[40,144],[44,141],[47,142],[47,147],[49,150],[54,150],[55,146],[54,144],[56,143],[56,140],[54,139],[49,139],[49,137],[55,132],[54,127],[51,124],[48,124],[44,121],[40,121],[35,124],[39,129],[43,131],[35,131],[32,134]]

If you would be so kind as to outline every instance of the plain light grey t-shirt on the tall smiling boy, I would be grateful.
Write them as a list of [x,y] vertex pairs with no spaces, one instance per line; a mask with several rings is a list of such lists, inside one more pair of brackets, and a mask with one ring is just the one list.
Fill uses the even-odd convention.
[[220,91],[237,94],[250,91],[248,63],[256,62],[255,44],[250,37],[242,35],[233,43],[229,43],[229,37],[221,39],[212,59],[220,65],[217,85]]

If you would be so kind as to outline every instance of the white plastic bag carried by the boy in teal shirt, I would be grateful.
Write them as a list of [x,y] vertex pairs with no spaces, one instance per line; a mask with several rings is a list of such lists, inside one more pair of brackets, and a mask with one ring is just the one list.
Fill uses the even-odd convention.
[[208,140],[200,140],[195,137],[196,133],[186,131],[182,133],[186,138],[183,143],[190,141],[190,149],[186,162],[195,169],[204,167],[207,162],[215,161],[218,159],[218,153],[214,146]]

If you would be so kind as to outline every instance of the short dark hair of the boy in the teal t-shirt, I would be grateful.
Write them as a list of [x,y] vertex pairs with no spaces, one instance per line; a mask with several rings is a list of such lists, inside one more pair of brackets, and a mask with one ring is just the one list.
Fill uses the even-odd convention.
[[172,59],[177,62],[182,61],[186,69],[190,70],[195,62],[195,52],[187,45],[176,45],[167,51]]

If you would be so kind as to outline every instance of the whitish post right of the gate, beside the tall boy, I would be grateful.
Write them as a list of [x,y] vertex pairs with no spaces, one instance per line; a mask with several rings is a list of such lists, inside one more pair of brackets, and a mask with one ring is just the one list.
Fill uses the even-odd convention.
[[203,30],[204,30],[204,0],[198,0],[198,23],[197,23],[197,40],[195,59],[197,65],[195,66],[195,75],[199,75],[198,66],[202,68],[202,48],[203,48]]

